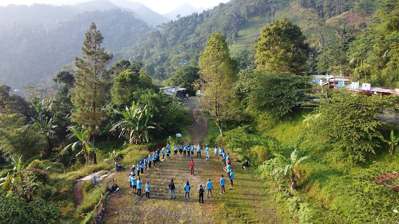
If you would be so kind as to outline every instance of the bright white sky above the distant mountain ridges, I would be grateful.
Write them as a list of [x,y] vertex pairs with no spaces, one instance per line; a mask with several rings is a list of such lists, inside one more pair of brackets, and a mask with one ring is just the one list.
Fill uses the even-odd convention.
[[[26,4],[31,5],[33,3],[46,3],[46,4],[76,4],[78,2],[84,2],[88,0],[0,0],[1,6],[8,4]],[[189,3],[196,8],[212,8],[218,5],[220,2],[227,2],[228,0],[130,0],[133,2],[141,2],[147,7],[151,8],[160,14],[169,13],[173,9],[179,7],[184,3]]]

